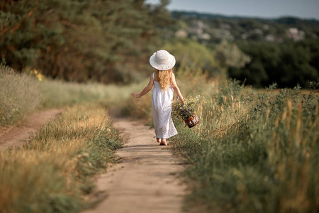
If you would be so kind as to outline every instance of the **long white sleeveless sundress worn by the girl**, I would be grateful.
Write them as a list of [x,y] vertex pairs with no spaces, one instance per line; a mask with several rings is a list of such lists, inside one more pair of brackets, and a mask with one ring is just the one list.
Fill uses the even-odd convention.
[[[154,72],[155,73],[155,72]],[[162,90],[159,82],[155,82],[153,73],[154,89],[152,92],[152,109],[154,118],[154,128],[157,138],[170,138],[177,134],[177,130],[172,121],[172,101],[174,89],[168,87]]]

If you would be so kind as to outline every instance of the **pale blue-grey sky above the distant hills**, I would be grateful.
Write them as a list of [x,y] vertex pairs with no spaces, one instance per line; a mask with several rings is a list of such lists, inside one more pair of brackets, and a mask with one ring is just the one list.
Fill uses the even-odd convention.
[[[146,0],[158,4],[159,0]],[[226,16],[279,18],[294,16],[319,20],[319,0],[171,0],[169,11],[197,11]]]

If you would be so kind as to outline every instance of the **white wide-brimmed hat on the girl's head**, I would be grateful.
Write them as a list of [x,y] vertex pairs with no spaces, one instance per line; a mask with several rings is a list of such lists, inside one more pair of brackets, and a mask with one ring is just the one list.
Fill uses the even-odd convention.
[[150,65],[156,70],[170,70],[174,67],[176,60],[166,50],[158,50],[150,57]]

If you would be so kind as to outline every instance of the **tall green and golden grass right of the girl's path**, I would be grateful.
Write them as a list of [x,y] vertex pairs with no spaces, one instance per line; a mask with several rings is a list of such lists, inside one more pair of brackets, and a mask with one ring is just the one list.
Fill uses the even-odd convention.
[[201,123],[175,123],[179,134],[171,141],[189,163],[187,208],[318,211],[319,99],[308,94],[307,107],[299,89],[259,94],[233,80],[203,92]]

